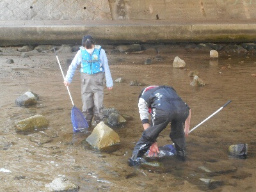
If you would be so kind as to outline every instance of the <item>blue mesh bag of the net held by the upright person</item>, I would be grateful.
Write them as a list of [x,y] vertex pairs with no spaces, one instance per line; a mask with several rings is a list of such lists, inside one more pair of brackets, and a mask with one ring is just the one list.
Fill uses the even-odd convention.
[[83,113],[75,106],[71,109],[71,122],[73,125],[73,132],[78,132],[89,127]]

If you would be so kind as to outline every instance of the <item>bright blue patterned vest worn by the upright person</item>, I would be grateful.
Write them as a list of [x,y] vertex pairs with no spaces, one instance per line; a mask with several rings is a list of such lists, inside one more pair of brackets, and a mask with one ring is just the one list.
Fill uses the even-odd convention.
[[82,54],[81,72],[91,75],[104,72],[102,63],[100,63],[100,49],[100,45],[95,45],[94,51],[90,54],[84,47],[80,47]]

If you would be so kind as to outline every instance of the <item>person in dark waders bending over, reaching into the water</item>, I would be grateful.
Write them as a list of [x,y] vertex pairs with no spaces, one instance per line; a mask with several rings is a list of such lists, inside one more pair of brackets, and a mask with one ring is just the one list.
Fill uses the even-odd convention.
[[[139,112],[143,124],[143,134],[134,147],[129,166],[139,165],[149,148],[149,156],[159,153],[157,136],[171,123],[170,138],[175,143],[177,156],[182,160],[186,157],[186,140],[191,118],[191,109],[170,86],[148,86],[139,97]],[[151,115],[151,124],[148,116]],[[185,129],[184,129],[185,127]]]

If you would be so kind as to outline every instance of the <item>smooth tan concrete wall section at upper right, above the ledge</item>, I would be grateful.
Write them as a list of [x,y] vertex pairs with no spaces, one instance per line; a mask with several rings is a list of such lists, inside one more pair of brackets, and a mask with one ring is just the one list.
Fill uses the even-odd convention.
[[256,0],[110,0],[109,4],[114,20],[256,18]]

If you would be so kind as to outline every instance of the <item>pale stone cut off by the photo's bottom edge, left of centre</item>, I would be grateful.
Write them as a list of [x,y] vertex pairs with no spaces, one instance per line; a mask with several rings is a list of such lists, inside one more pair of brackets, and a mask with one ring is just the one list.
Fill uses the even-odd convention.
[[41,189],[40,192],[77,192],[79,191],[79,186],[70,182],[69,180],[59,177],[52,180],[51,183],[46,184],[44,189]]

